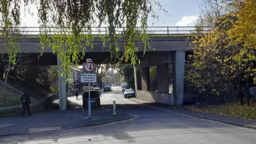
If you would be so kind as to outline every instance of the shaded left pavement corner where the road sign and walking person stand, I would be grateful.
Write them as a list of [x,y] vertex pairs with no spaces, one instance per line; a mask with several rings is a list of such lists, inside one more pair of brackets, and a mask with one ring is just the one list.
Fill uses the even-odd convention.
[[78,100],[76,100],[75,96],[68,99],[77,103],[76,105],[71,103],[72,105],[69,106],[69,109],[64,112],[57,110],[57,107],[57,109],[47,109],[42,112],[32,113],[30,117],[26,115],[25,118],[22,118],[21,115],[0,118],[0,135],[64,130],[131,118],[131,115],[127,113],[117,113],[113,116],[113,111],[107,111],[102,107],[92,107],[92,118],[88,119],[87,108],[82,108],[80,105],[81,97]]

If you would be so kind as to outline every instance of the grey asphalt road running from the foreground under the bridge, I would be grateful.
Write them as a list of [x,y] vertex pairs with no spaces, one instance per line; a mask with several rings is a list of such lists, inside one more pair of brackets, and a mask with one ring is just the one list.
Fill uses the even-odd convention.
[[121,87],[102,94],[102,107],[111,108],[113,100],[117,113],[124,111],[135,118],[103,126],[13,135],[0,143],[256,143],[254,130],[144,107],[124,99]]

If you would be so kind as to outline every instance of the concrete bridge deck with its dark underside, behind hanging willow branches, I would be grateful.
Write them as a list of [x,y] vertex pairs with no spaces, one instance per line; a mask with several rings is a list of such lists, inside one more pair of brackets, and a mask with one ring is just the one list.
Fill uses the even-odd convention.
[[[151,36],[150,37],[150,46],[152,49],[147,47],[146,54],[143,55],[144,45],[141,42],[137,42],[138,47],[138,57],[148,58],[154,57],[154,55],[164,54],[171,51],[186,51],[189,50],[189,44],[192,43],[193,39],[186,39],[188,36]],[[85,46],[85,41],[81,42]],[[124,40],[122,38],[117,38],[118,46],[120,47],[120,52],[124,52]],[[20,53],[29,54],[29,57],[32,59],[31,65],[57,65],[57,55],[53,55],[52,48],[49,47],[49,44],[46,43],[44,47],[43,56],[39,58],[38,55],[41,53],[41,43],[40,39],[37,37],[22,37],[19,38]],[[0,47],[5,47],[4,39],[0,38]],[[110,52],[108,43],[105,46],[102,44],[100,37],[94,37],[94,46],[86,47],[85,50],[85,59],[91,58],[97,64],[108,63],[110,60]],[[82,50],[81,50],[82,52]],[[7,53],[5,49],[0,49],[0,53]],[[82,62],[85,61],[82,60]]]

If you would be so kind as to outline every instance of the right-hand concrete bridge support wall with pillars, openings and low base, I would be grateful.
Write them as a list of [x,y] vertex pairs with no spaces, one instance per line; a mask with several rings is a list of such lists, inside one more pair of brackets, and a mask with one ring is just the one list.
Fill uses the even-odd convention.
[[[169,66],[167,63],[172,63],[173,90],[171,94],[169,91]],[[147,87],[150,85],[148,68],[154,65],[157,65],[157,92],[145,92],[149,91]],[[145,58],[140,65],[135,65],[134,69],[141,69],[142,82],[142,91],[138,91],[136,97],[150,102],[183,105],[185,51],[174,51]],[[135,82],[138,82],[137,79],[135,79]]]

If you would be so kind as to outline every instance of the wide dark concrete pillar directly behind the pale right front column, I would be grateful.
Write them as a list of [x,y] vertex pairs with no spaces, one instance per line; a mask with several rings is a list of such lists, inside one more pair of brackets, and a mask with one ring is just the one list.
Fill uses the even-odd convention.
[[169,65],[157,65],[157,92],[169,93]]

